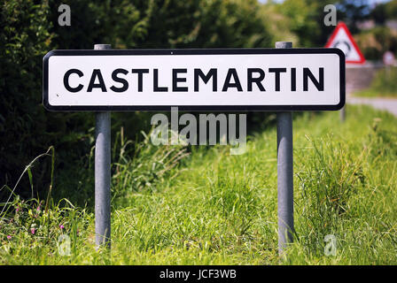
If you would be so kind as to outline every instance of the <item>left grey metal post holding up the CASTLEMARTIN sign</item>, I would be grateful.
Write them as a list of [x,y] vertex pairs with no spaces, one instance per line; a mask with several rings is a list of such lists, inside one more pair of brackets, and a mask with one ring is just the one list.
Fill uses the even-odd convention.
[[[110,50],[110,44],[95,44],[94,50]],[[95,129],[95,242],[110,248],[110,111],[96,113]]]

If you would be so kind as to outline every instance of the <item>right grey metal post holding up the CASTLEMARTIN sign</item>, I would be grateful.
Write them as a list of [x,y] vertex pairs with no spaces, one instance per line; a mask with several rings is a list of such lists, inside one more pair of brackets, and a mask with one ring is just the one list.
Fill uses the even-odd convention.
[[[292,42],[276,42],[276,48],[292,48]],[[292,112],[277,112],[278,251],[283,253],[293,233]]]

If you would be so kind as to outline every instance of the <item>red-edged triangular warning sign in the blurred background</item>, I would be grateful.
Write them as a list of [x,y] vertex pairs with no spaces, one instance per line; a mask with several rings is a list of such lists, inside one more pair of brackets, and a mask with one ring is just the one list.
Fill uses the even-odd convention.
[[357,43],[354,42],[353,36],[344,22],[339,22],[325,47],[342,50],[346,56],[346,63],[363,64],[365,62],[362,52]]

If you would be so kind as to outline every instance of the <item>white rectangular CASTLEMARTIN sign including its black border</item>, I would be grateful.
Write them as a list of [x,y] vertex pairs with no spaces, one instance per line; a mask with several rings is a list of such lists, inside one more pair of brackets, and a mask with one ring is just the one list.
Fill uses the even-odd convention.
[[339,49],[53,50],[50,111],[323,111],[345,104]]

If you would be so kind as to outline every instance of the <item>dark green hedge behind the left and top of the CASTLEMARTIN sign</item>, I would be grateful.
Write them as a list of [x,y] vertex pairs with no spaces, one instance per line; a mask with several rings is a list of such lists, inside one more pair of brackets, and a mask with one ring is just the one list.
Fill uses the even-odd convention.
[[[55,146],[58,192],[91,195],[90,152],[94,113],[44,111],[42,60],[54,49],[271,47],[266,14],[255,0],[69,0],[71,26],[58,26],[61,1],[5,0],[0,4],[0,184],[12,187],[24,164]],[[151,113],[113,113],[113,140],[123,126],[128,139],[150,129]],[[45,194],[51,164],[32,168],[35,195]],[[71,178],[70,176],[74,176]],[[23,177],[19,194],[30,197]],[[68,193],[72,195],[71,193]],[[4,196],[0,195],[0,199]]]

